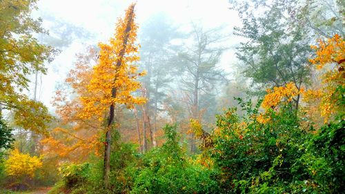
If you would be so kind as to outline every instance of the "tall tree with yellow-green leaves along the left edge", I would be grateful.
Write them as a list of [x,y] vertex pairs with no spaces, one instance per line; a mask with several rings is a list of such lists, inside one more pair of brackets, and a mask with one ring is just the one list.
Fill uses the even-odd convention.
[[28,99],[28,75],[46,72],[45,61],[52,61],[55,50],[40,44],[34,33],[47,33],[41,19],[30,17],[37,1],[0,3],[0,106],[14,111],[14,124],[43,133],[51,119],[46,106]]

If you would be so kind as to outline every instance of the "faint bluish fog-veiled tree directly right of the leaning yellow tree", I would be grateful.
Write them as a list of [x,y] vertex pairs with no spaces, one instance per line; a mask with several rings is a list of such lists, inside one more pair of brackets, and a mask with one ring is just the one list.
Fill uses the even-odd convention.
[[[142,78],[148,103],[143,107],[146,118],[146,127],[152,131],[151,144],[156,146],[155,133],[158,128],[157,117],[161,112],[162,104],[166,98],[166,90],[172,82],[172,58],[176,55],[173,39],[178,39],[181,34],[169,21],[169,18],[158,13],[150,17],[141,27],[139,35],[140,64],[148,74]],[[151,122],[152,120],[152,122]],[[152,124],[152,126],[151,126]],[[151,129],[152,128],[152,129]]]

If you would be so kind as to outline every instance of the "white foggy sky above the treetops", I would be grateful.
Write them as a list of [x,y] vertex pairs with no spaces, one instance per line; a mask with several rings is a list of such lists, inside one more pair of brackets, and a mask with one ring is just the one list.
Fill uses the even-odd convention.
[[[97,45],[100,41],[107,42],[114,33],[117,18],[124,17],[126,8],[132,2],[128,0],[41,0],[37,3],[38,10],[33,12],[33,17],[43,18],[43,28],[50,31],[56,30],[52,29],[52,22],[45,20],[48,16],[71,23],[90,33],[90,37],[74,37],[69,46],[60,48],[60,54],[52,63],[47,64],[47,75],[39,77],[38,97],[50,110],[54,109],[50,102],[55,90],[73,67],[75,55],[85,51],[90,45]],[[225,26],[224,33],[230,37],[224,45],[229,49],[222,55],[219,66],[229,73],[229,77],[232,77],[237,61],[235,47],[241,41],[241,38],[232,33],[233,27],[240,26],[241,21],[237,12],[230,10],[229,6],[228,0],[138,0],[135,11],[139,33],[141,24],[158,12],[167,14],[175,25],[181,26],[181,29],[187,30],[187,26],[192,22],[206,29]],[[33,80],[34,77],[32,77],[32,82]],[[32,91],[31,96],[33,96]]]

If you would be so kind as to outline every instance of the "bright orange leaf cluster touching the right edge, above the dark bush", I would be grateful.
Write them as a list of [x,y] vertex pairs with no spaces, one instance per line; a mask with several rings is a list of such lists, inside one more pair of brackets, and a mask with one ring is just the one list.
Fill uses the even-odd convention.
[[[324,122],[337,112],[344,115],[344,86],[345,86],[345,41],[344,37],[334,35],[323,41],[319,39],[318,46],[311,46],[316,50],[316,57],[310,59],[317,69],[324,69],[322,88],[306,91],[306,101],[319,101],[319,110]],[[312,106],[311,104],[309,104]]]

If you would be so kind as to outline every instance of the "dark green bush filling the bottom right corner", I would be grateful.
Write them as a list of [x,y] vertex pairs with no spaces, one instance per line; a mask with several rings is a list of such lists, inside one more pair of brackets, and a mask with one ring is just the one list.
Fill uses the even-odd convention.
[[344,127],[344,120],[323,126],[306,142],[306,153],[293,166],[293,171],[299,170],[298,165],[305,168],[308,185],[317,193],[342,193],[344,190]]

